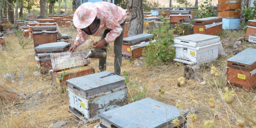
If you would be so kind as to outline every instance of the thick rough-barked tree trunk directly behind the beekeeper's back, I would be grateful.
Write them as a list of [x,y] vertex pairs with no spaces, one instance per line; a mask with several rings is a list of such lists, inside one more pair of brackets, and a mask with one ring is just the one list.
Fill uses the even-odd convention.
[[130,14],[128,37],[143,33],[143,6],[142,0],[130,0],[127,4]]

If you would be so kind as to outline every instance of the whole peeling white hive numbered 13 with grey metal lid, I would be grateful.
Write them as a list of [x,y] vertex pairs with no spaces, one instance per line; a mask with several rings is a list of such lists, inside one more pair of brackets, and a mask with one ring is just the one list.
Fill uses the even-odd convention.
[[117,74],[99,78],[109,73],[103,71],[67,80],[69,111],[80,119],[97,120],[99,113],[125,105],[125,80]]

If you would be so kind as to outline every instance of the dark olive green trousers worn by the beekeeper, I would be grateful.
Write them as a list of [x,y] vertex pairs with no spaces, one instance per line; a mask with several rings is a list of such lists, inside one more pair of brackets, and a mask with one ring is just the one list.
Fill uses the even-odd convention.
[[[122,43],[123,43],[123,37],[124,37],[124,24],[125,24],[125,21],[122,24],[120,24],[123,31],[120,34],[120,36],[117,37],[114,41],[114,54],[115,54],[114,70],[116,71],[116,74],[118,74],[119,76],[121,73],[121,65],[122,65]],[[109,32],[110,32],[110,30],[108,30],[108,29],[105,30],[104,34],[101,35],[101,39],[104,39]],[[109,43],[105,44],[106,47],[108,45],[109,45]],[[100,71],[106,70],[106,58],[99,59],[99,69],[100,69]]]

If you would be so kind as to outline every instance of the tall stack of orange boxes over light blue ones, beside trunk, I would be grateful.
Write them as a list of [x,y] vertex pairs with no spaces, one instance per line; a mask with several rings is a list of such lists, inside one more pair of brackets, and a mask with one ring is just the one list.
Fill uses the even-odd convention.
[[222,17],[223,29],[238,29],[240,20],[241,8],[240,0],[219,0],[218,1],[218,16]]

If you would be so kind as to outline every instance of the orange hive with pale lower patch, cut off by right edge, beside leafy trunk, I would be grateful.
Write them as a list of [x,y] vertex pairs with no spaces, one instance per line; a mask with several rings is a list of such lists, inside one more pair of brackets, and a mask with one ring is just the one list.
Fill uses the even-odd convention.
[[249,20],[245,40],[256,43],[256,20]]

